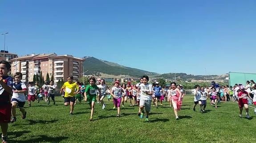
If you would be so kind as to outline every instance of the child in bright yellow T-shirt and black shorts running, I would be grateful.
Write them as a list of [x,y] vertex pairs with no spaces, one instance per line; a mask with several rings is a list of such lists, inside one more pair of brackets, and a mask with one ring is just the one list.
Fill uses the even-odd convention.
[[61,91],[60,91],[61,94],[62,94],[64,89],[65,89],[64,105],[65,106],[70,105],[69,115],[73,115],[74,104],[75,104],[75,101],[76,101],[75,95],[79,92],[79,86],[76,84],[76,82],[73,82],[73,76],[72,75],[67,77],[67,81],[61,87]]

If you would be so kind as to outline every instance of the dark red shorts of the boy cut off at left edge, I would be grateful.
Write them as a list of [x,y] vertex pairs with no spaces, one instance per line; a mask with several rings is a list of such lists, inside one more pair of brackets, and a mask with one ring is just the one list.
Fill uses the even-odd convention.
[[11,122],[11,111],[12,111],[12,104],[0,106],[0,123]]

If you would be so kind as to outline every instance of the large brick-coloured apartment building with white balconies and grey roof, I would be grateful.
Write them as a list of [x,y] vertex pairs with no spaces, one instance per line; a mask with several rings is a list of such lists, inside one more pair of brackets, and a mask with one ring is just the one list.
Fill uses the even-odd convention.
[[53,76],[54,82],[61,78],[64,80],[68,75],[74,79],[81,77],[83,70],[83,59],[75,58],[72,55],[31,54],[10,60],[12,62],[11,73],[21,72],[22,81],[33,81],[34,74],[42,74],[44,79],[47,73],[49,78]]

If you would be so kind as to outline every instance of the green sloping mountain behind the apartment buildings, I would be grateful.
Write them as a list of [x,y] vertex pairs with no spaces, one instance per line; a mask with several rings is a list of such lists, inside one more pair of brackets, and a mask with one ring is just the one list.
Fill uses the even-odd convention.
[[130,68],[126,66],[122,66],[120,68],[120,65],[114,62],[108,62],[104,60],[99,60],[94,57],[84,57],[84,67],[86,74],[94,74],[94,75],[100,75],[101,73],[109,74],[118,76],[120,75],[122,70],[122,75],[129,75],[130,77],[141,77],[142,75],[158,75],[158,73],[153,73],[145,70],[139,70],[135,68]]

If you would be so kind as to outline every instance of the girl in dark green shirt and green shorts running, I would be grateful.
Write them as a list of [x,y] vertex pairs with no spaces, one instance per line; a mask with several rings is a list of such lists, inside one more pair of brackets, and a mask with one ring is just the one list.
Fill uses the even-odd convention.
[[101,90],[98,88],[97,85],[94,83],[96,82],[96,79],[94,77],[90,77],[89,79],[89,85],[85,88],[85,101],[88,101],[88,104],[91,108],[91,116],[90,121],[93,121],[93,112],[94,112],[94,104],[97,101],[97,91],[99,92],[99,97],[102,96]]

